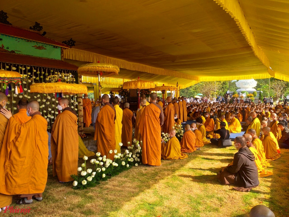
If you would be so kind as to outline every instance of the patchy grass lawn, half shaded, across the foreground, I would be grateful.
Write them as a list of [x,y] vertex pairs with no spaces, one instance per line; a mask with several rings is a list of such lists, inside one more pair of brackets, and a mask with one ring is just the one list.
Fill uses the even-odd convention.
[[234,146],[206,145],[187,159],[162,161],[160,167],[140,165],[82,191],[73,190],[72,183],[59,183],[49,166],[43,201],[18,207],[29,206],[32,211],[27,215],[39,217],[243,217],[249,216],[253,206],[264,204],[276,217],[289,216],[289,150],[283,149],[282,157],[270,162],[268,170],[274,175],[259,178],[260,185],[251,192],[238,192],[217,181],[217,172],[232,161],[235,152]]

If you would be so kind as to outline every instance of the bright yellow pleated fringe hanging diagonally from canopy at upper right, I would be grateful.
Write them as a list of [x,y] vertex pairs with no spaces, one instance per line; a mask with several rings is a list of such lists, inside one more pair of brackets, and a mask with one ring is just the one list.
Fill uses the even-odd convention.
[[245,18],[245,15],[240,7],[237,0],[214,0],[218,5],[221,5],[223,10],[225,10],[230,16],[235,20],[236,24],[239,26],[242,34],[244,35],[246,41],[251,46],[253,53],[259,60],[267,67],[270,67],[268,58],[265,56],[262,49],[257,45],[255,41],[254,34]]

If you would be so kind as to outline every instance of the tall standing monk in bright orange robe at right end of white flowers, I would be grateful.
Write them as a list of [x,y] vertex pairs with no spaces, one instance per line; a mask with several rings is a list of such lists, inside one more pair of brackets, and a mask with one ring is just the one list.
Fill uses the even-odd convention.
[[142,163],[161,165],[161,126],[164,124],[162,107],[156,104],[157,94],[150,94],[151,104],[140,116],[139,129],[142,137]]

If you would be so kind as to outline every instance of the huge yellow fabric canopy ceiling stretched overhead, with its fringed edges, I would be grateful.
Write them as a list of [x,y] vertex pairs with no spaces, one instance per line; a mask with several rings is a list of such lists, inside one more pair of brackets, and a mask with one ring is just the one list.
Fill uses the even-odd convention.
[[184,88],[200,81],[289,80],[288,4],[110,0],[74,1],[67,10],[65,1],[12,0],[1,10],[13,25],[28,28],[38,20],[52,39],[73,37],[76,46],[64,50],[65,59],[116,65],[116,78],[140,76]]

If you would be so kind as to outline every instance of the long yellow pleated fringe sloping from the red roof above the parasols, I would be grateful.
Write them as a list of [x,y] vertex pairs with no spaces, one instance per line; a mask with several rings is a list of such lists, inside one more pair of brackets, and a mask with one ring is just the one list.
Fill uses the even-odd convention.
[[141,71],[141,72],[147,72],[147,73],[156,74],[156,75],[164,75],[164,76],[171,76],[171,77],[176,77],[176,78],[183,78],[187,80],[198,81],[197,76],[187,75],[185,73],[180,73],[180,72],[173,71],[173,70],[147,66],[144,64],[136,63],[136,62],[129,62],[126,60],[103,56],[100,54],[95,54],[92,52],[77,50],[73,48],[64,50],[63,55],[64,55],[63,56],[64,58],[71,59],[71,60],[78,60],[78,61],[83,61],[83,62],[100,61],[103,63],[110,63],[113,65],[117,65],[119,68],[122,68],[122,69],[128,69],[132,71]]

